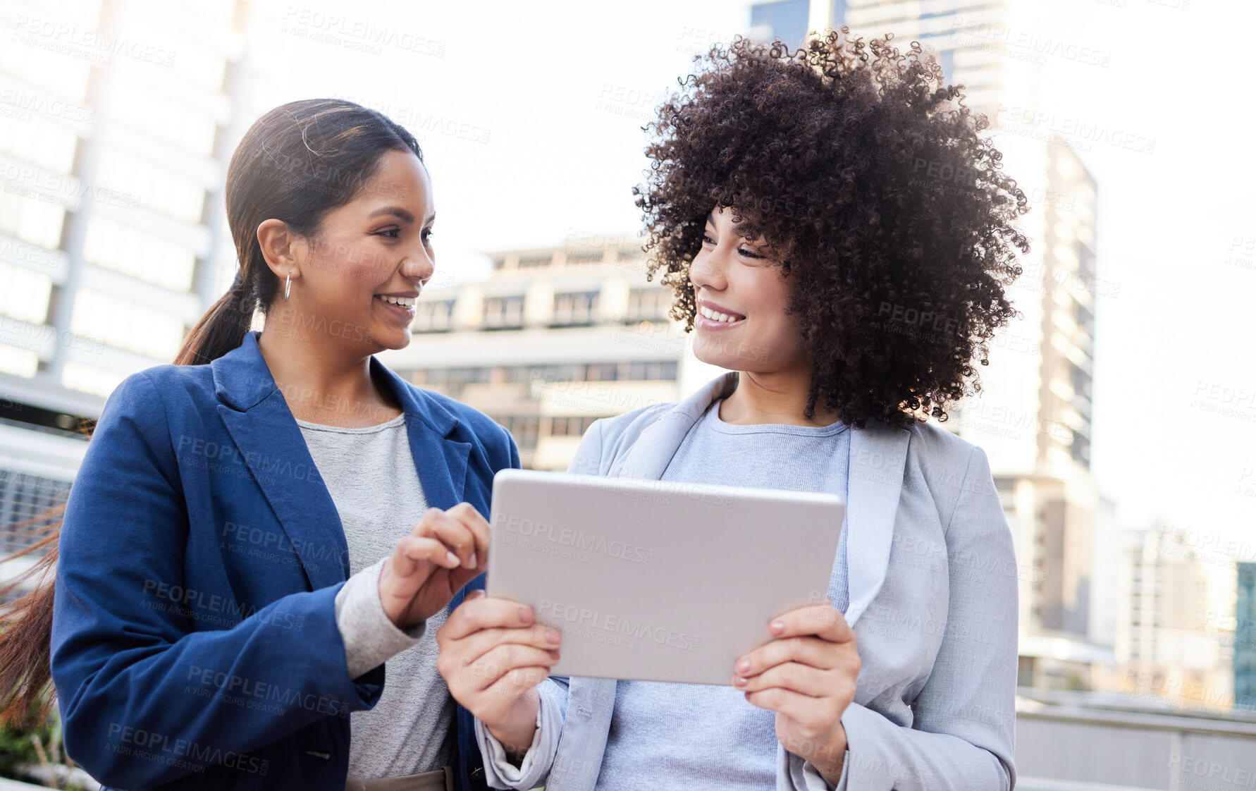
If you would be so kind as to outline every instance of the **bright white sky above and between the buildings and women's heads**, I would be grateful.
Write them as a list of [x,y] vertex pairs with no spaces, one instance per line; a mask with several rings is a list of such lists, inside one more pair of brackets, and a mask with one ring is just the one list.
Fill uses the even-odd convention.
[[[265,38],[291,65],[276,102],[343,95],[418,133],[438,266],[462,275],[477,250],[634,232],[639,127],[695,50],[749,26],[731,0],[345,6],[275,4],[286,29]],[[394,43],[349,49],[355,25]],[[1080,153],[1099,182],[1098,275],[1119,284],[1096,308],[1095,476],[1122,522],[1163,515],[1256,559],[1251,60],[1230,34],[1256,29],[1256,6],[1053,0],[1042,25],[1112,53],[1107,68],[1049,59],[1048,109],[1156,141]]]

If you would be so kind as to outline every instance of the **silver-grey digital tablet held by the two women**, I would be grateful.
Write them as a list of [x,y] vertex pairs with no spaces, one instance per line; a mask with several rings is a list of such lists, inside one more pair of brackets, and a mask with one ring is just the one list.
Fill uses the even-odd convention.
[[502,470],[487,595],[563,633],[554,675],[732,684],[772,618],[823,604],[835,495]]

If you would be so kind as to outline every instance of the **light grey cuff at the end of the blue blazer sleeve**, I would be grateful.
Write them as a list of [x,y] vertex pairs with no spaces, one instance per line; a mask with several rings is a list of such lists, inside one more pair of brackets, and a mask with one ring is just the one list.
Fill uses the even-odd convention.
[[379,667],[423,637],[427,622],[398,629],[379,601],[379,574],[384,561],[349,578],[335,595],[335,625],[344,640],[349,678]]

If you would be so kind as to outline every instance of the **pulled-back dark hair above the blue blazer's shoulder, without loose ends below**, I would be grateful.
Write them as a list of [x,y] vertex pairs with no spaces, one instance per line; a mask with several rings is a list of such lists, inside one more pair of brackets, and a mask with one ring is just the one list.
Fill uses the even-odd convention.
[[327,212],[353,200],[388,151],[423,152],[404,127],[343,99],[303,99],[270,110],[240,141],[227,167],[227,225],[235,240],[231,289],[183,340],[176,365],[208,363],[244,340],[255,310],[266,311],[279,279],[266,266],[257,226],[283,220],[314,236]]

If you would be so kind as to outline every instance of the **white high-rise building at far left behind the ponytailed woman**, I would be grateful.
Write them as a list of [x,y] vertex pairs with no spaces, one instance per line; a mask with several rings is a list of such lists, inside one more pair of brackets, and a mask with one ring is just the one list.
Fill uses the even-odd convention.
[[245,46],[263,13],[0,4],[0,554],[64,498],[109,392],[170,363],[230,280],[224,175],[266,83]]

